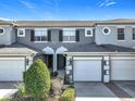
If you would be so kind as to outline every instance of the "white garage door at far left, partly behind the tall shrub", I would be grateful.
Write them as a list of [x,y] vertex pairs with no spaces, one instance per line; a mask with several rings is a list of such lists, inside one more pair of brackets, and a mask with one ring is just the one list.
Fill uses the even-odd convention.
[[0,81],[23,80],[24,58],[0,58]]

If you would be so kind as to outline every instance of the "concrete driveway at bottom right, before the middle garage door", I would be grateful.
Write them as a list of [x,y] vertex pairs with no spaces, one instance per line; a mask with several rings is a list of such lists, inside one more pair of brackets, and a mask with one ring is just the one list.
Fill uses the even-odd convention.
[[135,101],[118,85],[121,87],[120,83],[75,83],[75,101]]

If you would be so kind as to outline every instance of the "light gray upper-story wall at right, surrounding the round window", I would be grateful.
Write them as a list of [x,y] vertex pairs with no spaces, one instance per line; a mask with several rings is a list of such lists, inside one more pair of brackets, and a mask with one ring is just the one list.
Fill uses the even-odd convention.
[[[111,34],[103,35],[102,28],[109,27]],[[97,45],[116,45],[122,47],[133,48],[135,47],[135,41],[132,39],[132,26],[125,26],[125,40],[118,40],[118,27],[119,26],[97,26],[95,41]]]

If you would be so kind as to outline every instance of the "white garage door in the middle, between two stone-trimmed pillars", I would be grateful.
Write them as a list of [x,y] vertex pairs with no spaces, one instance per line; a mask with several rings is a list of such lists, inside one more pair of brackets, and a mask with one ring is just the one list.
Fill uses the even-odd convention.
[[101,81],[101,58],[74,59],[74,81]]

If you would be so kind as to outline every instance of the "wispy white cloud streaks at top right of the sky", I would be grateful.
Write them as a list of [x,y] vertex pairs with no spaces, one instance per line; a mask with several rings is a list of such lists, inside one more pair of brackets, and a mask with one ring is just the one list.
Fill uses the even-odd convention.
[[114,0],[103,0],[97,3],[99,8],[114,5],[116,2]]

